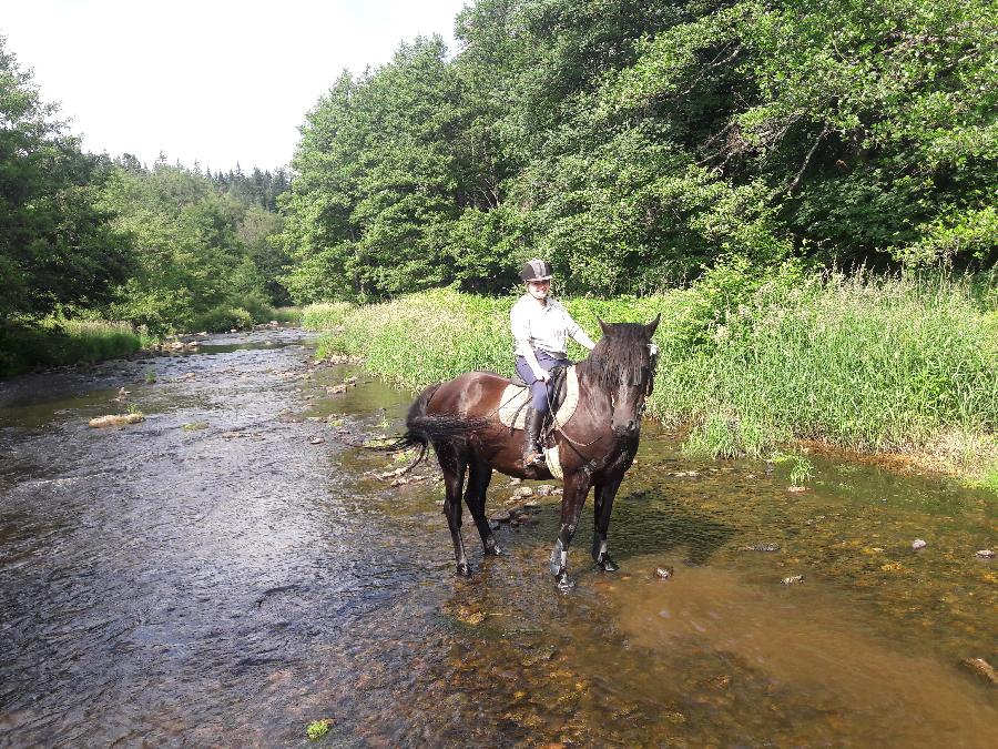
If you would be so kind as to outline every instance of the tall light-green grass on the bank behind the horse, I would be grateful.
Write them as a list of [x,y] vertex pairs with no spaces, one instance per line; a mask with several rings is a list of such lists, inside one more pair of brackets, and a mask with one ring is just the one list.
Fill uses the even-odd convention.
[[[361,355],[370,371],[418,388],[468,370],[509,374],[513,302],[436,291],[306,308],[304,320],[329,331],[320,355]],[[813,439],[998,483],[994,285],[734,264],[668,294],[566,304],[592,335],[597,316],[662,313],[650,413],[691,424],[691,452],[763,456]]]

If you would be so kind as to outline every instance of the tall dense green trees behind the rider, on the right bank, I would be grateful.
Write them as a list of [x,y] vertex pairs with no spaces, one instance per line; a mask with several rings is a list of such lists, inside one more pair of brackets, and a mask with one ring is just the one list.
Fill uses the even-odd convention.
[[301,302],[525,256],[648,293],[732,255],[998,260],[998,18],[940,0],[477,0],[307,115],[283,201]]

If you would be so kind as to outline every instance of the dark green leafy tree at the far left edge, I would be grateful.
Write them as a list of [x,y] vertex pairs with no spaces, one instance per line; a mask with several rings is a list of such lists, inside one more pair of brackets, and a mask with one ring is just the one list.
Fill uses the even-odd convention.
[[128,242],[100,204],[111,166],[83,154],[57,113],[0,37],[0,321],[102,305],[129,272]]

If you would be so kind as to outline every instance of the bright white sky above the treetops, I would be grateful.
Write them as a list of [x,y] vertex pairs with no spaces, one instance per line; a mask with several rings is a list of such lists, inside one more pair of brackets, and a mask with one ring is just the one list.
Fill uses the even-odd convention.
[[344,68],[420,34],[454,53],[465,2],[0,0],[0,34],[86,151],[273,171]]

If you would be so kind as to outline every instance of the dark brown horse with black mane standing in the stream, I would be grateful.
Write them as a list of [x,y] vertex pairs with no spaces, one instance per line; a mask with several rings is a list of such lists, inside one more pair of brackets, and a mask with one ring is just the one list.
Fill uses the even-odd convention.
[[[561,589],[572,587],[568,547],[590,486],[595,487],[592,557],[605,571],[618,569],[607,551],[607,529],[613,498],[638,452],[641,414],[654,378],[651,338],[658,325],[659,317],[646,325],[600,321],[603,337],[577,366],[579,405],[574,416],[563,429],[556,428],[548,436],[549,444],[553,441],[559,446],[564,474],[561,528],[551,554],[551,574]],[[462,489],[485,553],[501,555],[485,510],[492,469],[519,478],[552,477],[547,466],[525,467],[525,433],[499,421],[500,398],[508,384],[506,377],[491,372],[468,372],[431,385],[413,403],[407,432],[396,444],[396,448],[420,445],[416,463],[428,444],[434,446],[444,470],[444,514],[454,538],[457,571],[462,576],[471,574],[461,540]]]

